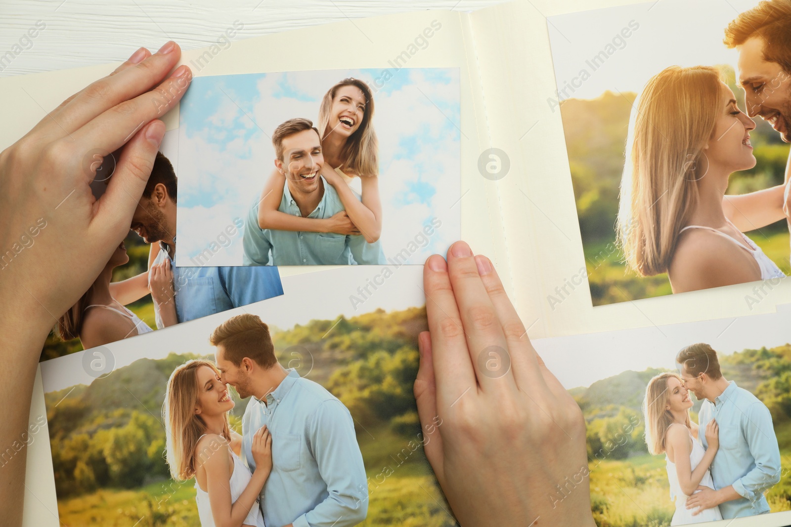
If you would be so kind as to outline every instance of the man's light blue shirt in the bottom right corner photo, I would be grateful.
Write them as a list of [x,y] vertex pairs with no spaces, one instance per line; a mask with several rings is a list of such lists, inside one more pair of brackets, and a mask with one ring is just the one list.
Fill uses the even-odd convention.
[[[720,448],[711,463],[711,477],[719,490],[729,485],[743,496],[720,504],[722,518],[769,512],[763,492],[780,481],[780,448],[772,416],[755,395],[731,381],[714,402],[703,401],[698,414],[701,431],[710,420],[720,428]],[[705,434],[703,446],[708,448]]]

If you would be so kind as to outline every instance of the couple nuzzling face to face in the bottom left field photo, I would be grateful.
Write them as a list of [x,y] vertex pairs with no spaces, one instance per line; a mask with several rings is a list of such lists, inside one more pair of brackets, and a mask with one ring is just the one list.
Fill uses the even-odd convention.
[[[354,421],[319,383],[281,366],[259,317],[229,318],[210,337],[215,360],[168,379],[163,421],[176,481],[195,478],[200,525],[351,527],[365,520],[368,481]],[[241,435],[229,427],[252,397]]]

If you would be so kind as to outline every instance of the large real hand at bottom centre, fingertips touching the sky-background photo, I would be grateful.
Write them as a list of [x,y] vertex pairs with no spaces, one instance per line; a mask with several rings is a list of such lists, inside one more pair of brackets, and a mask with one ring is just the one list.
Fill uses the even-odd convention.
[[447,263],[428,259],[423,281],[429,332],[418,337],[414,395],[456,519],[594,525],[582,412],[533,349],[490,260],[456,242]]

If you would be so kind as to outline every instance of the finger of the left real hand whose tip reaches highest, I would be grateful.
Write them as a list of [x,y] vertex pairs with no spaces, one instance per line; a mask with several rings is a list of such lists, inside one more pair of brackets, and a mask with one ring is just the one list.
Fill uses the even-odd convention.
[[168,72],[179,61],[180,55],[181,50],[175,42],[165,43],[160,51],[143,59],[139,64],[130,65],[112,76],[108,75],[93,82],[61,107],[57,115],[54,115],[55,119],[63,129],[74,134],[110,108],[149,92],[167,77]]

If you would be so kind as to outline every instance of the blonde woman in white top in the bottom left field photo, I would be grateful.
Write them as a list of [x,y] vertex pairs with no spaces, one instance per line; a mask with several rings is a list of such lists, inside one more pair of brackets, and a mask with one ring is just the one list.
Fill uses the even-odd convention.
[[167,459],[176,481],[195,478],[202,527],[264,527],[258,497],[272,470],[272,438],[260,427],[252,440],[255,472],[241,461],[241,436],[231,431],[234,402],[208,360],[190,360],[168,379],[162,413]]

